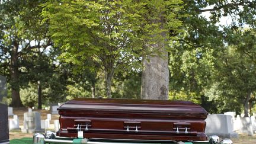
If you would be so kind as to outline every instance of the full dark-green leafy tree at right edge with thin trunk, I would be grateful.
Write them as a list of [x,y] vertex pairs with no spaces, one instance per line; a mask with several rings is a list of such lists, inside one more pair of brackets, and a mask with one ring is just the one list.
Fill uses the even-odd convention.
[[230,105],[244,105],[245,116],[248,116],[248,103],[256,91],[255,30],[229,30],[228,34],[231,35],[227,37],[229,46],[219,53],[215,81],[222,98],[228,98]]

